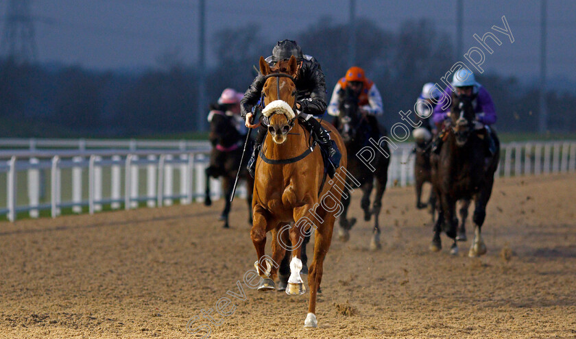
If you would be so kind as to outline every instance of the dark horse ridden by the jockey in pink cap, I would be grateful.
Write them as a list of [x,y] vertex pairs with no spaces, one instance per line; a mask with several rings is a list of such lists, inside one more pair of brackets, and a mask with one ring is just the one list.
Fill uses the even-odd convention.
[[230,195],[236,179],[238,168],[241,168],[240,177],[245,178],[246,188],[248,190],[248,223],[252,225],[252,191],[254,190],[254,179],[248,175],[246,162],[248,157],[244,157],[242,166],[243,142],[245,135],[242,135],[235,125],[235,116],[230,116],[222,112],[218,107],[213,106],[210,121],[210,139],[213,148],[210,153],[210,164],[206,168],[206,197],[204,205],[212,205],[210,197],[210,178],[221,177],[222,190],[224,191],[224,210],[219,220],[224,221],[224,228],[230,227],[228,224],[228,214],[230,214]]

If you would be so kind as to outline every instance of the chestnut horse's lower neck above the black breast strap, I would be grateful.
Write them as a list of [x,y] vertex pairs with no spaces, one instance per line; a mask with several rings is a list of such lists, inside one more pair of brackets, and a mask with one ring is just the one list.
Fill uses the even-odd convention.
[[296,119],[294,127],[292,127],[288,134],[287,140],[282,144],[276,144],[276,142],[272,140],[272,135],[267,134],[263,153],[267,158],[274,160],[295,158],[304,153],[309,147],[309,136],[309,132],[304,129],[304,127],[298,123],[298,119]]

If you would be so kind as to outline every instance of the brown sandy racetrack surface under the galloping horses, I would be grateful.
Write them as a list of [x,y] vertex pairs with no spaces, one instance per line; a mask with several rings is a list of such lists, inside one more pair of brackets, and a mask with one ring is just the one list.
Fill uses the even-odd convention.
[[[308,293],[242,282],[246,301],[226,294],[256,260],[243,201],[228,230],[221,201],[0,223],[0,337],[200,338],[187,322],[222,297],[236,308],[214,316],[224,323],[211,338],[576,337],[573,174],[498,179],[479,259],[470,240],[449,255],[444,236],[431,253],[414,201],[413,188],[387,190],[381,251],[368,251],[363,221],[350,242],[333,238],[314,330],[302,329]],[[358,194],[351,215],[361,219]]]

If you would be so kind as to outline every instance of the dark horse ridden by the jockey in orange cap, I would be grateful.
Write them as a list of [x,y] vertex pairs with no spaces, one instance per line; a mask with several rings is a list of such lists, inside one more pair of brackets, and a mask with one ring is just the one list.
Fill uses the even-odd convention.
[[[344,145],[346,145],[346,151],[348,153],[348,167],[346,167],[346,169],[350,172],[350,175],[360,183],[359,187],[362,190],[360,205],[362,210],[364,210],[364,220],[370,221],[370,218],[374,215],[374,229],[372,230],[370,249],[379,249],[381,244],[378,218],[382,208],[382,197],[386,190],[390,159],[389,156],[386,157],[376,151],[375,159],[372,160],[372,164],[374,164],[374,168],[376,168],[374,172],[361,162],[356,154],[363,147],[370,145],[368,143],[368,139],[370,138],[368,121],[365,116],[359,112],[358,97],[350,88],[342,90],[339,99],[340,114],[335,118],[334,125],[342,136]],[[383,136],[386,135],[383,127],[380,127],[380,131]],[[378,142],[379,140],[374,141]],[[381,147],[385,153],[390,154],[386,142],[383,142]],[[376,197],[374,197],[374,205],[372,205],[372,209],[370,209],[370,194],[374,188],[374,178],[376,178]],[[346,181],[350,181],[348,176],[346,177]],[[351,184],[351,182],[348,182],[348,185],[351,186]],[[338,236],[342,241],[348,241],[350,238],[348,231],[356,223],[356,218],[348,218],[348,206],[350,205],[350,190],[348,190],[350,186],[348,185],[344,186],[344,194],[342,194],[344,212],[342,212],[340,217],[340,229],[338,232]]]

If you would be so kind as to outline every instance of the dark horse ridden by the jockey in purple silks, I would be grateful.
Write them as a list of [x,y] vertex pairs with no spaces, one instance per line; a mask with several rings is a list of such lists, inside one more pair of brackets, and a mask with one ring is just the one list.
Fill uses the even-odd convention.
[[[473,100],[474,97],[458,96],[453,93],[451,115],[448,120],[450,125],[440,134],[440,137],[445,138],[440,154],[432,157],[432,185],[439,200],[437,204],[439,213],[430,249],[440,251],[442,248],[440,232],[443,230],[454,240],[451,253],[457,253],[456,202],[459,199],[474,199],[472,222],[475,232],[468,256],[477,257],[486,253],[481,227],[486,216],[486,205],[492,194],[494,172],[500,158],[500,142],[492,132],[496,151],[493,155],[489,154],[483,140],[486,136],[474,129]],[[485,133],[484,130],[482,133]]]

